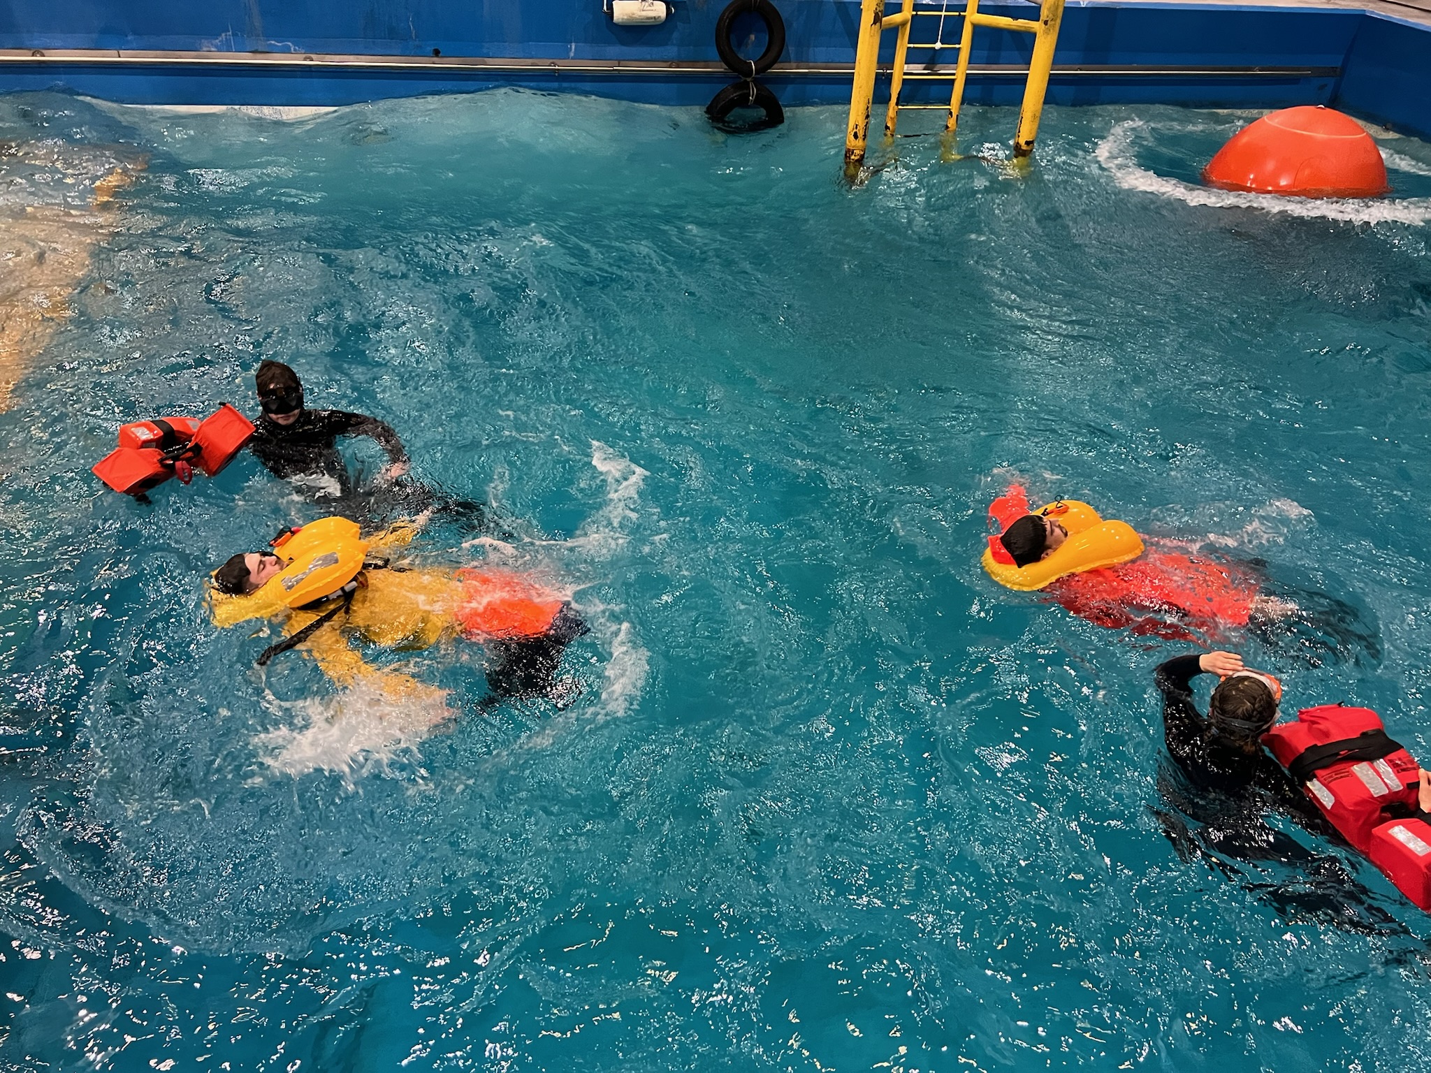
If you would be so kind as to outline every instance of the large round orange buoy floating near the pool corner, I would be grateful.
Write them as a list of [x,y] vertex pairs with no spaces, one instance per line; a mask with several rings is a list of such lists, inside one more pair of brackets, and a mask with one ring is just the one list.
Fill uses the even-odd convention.
[[1245,126],[1202,169],[1202,180],[1292,197],[1379,197],[1391,189],[1371,134],[1322,104],[1282,109]]

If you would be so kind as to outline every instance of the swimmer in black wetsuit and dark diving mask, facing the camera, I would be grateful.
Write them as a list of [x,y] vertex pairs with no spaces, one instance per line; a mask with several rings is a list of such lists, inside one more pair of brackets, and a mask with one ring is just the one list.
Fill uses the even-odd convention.
[[[439,511],[469,531],[491,531],[487,508],[456,499],[408,479],[408,452],[392,426],[365,413],[305,409],[303,385],[282,362],[265,361],[253,378],[263,412],[253,422],[249,449],[270,474],[301,488],[312,499],[342,499],[369,524],[398,514]],[[359,489],[338,451],[339,436],[371,436],[388,454],[375,486]],[[504,529],[497,529],[502,535]]]

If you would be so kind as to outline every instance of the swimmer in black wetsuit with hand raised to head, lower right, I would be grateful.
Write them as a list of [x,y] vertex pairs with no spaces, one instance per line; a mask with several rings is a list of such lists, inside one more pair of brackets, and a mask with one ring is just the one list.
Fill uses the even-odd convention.
[[[1222,678],[1198,712],[1192,680]],[[1335,857],[1317,854],[1264,817],[1278,813],[1318,837],[1337,831],[1262,747],[1278,717],[1281,684],[1246,668],[1236,652],[1192,652],[1153,674],[1163,700],[1163,738],[1172,770],[1158,780],[1165,808],[1153,808],[1163,834],[1183,860],[1201,857],[1274,904],[1284,918],[1311,914],[1338,927],[1401,930],[1391,914]],[[1421,807],[1431,807],[1431,778],[1422,773]],[[1239,864],[1259,870],[1286,866],[1279,881],[1246,881]]]

